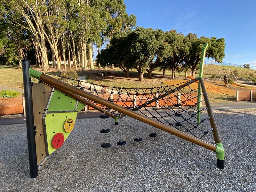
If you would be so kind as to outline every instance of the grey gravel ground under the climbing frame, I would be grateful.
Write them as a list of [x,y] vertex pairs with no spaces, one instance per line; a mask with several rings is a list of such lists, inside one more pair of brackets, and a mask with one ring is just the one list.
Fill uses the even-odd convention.
[[[25,124],[0,126],[0,191],[256,191],[255,111],[214,111],[225,170],[216,167],[214,152],[130,117],[118,126],[110,118],[91,118],[77,120],[64,145],[30,179]],[[99,133],[108,127],[110,133]],[[158,136],[148,137],[151,132]],[[117,146],[118,140],[127,144]],[[112,146],[100,148],[103,142]]]

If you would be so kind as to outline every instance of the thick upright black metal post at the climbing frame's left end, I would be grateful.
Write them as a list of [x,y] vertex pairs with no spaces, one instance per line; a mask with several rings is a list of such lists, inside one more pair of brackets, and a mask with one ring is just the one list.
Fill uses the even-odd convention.
[[31,77],[29,76],[30,60],[21,60],[21,61],[22,61],[23,85],[24,85],[24,96],[25,96],[30,177],[36,178],[38,172],[37,172],[37,160],[36,160],[36,140],[35,140],[35,129],[34,129]]

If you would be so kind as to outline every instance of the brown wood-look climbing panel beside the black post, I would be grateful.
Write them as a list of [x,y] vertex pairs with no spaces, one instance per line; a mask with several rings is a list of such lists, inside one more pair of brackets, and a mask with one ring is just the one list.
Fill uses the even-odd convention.
[[[36,157],[37,165],[40,165],[46,157],[46,149],[44,143],[43,116],[44,109],[52,92],[52,88],[43,83],[36,83],[32,86],[34,124],[36,126]],[[41,135],[40,135],[41,134]],[[43,154],[43,155],[42,155]]]

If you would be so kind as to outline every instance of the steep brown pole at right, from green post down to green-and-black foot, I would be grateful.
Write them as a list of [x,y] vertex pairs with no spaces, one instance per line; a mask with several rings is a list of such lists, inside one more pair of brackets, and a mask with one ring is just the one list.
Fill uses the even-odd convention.
[[215,143],[221,143],[220,133],[219,133],[217,124],[215,122],[215,118],[214,118],[213,113],[212,113],[212,107],[210,105],[210,101],[209,101],[209,98],[208,98],[208,95],[207,95],[207,92],[206,92],[206,89],[205,89],[205,86],[204,86],[204,80],[202,78],[200,78],[199,81],[201,83],[202,91],[204,93],[204,102],[205,102],[205,106],[207,108],[208,116],[210,117],[210,124],[211,124],[211,127],[212,127],[212,133],[213,133],[214,141],[215,141]]

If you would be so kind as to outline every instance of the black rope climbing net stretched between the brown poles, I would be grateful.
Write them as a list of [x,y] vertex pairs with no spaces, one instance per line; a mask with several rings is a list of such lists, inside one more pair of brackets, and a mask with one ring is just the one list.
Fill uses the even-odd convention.
[[[76,87],[86,92],[90,92],[124,108],[153,118],[160,123],[172,126],[197,138],[201,139],[209,131],[212,131],[209,123],[204,123],[209,118],[207,113],[202,114],[202,111],[206,111],[206,108],[201,108],[197,111],[198,102],[202,103],[204,100],[201,99],[198,101],[198,88],[192,89],[190,87],[197,79],[188,80],[180,84],[153,88],[111,87],[81,80],[75,81],[78,82]],[[203,98],[203,93],[199,96]],[[99,103],[89,101],[118,118],[125,116]],[[197,118],[198,113],[201,113],[199,124]]]

